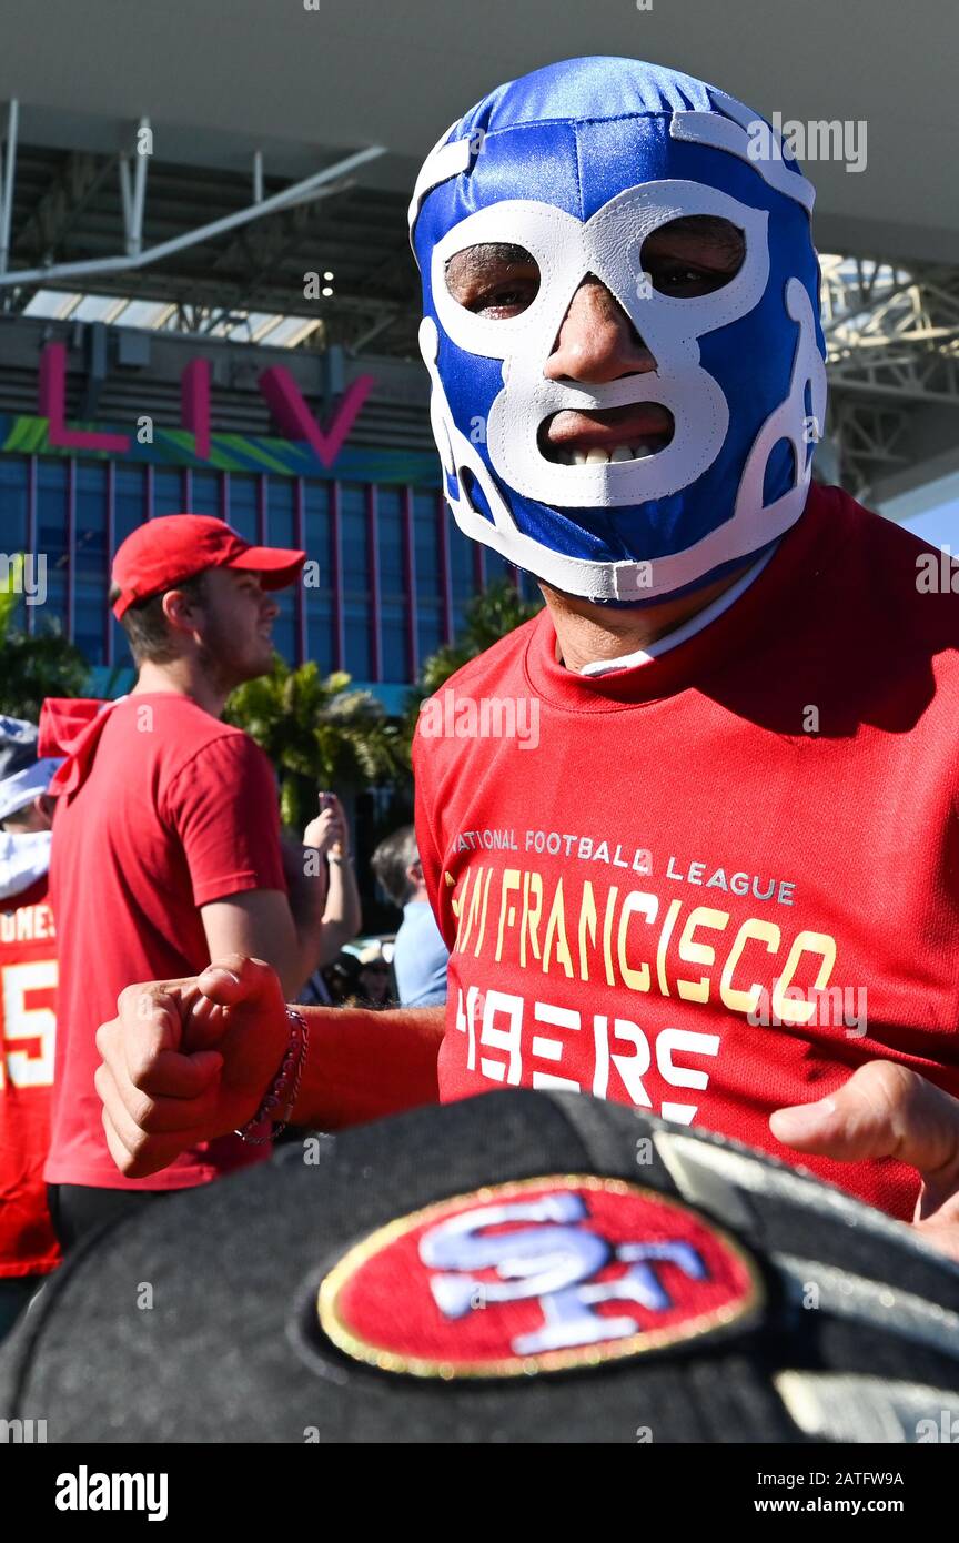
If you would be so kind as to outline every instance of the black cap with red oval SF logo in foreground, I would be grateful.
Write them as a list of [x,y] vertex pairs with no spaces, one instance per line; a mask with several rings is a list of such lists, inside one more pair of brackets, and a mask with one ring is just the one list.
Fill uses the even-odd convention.
[[813,1176],[503,1091],[108,1225],[8,1341],[0,1416],[83,1444],[908,1443],[959,1413],[957,1329],[959,1267]]

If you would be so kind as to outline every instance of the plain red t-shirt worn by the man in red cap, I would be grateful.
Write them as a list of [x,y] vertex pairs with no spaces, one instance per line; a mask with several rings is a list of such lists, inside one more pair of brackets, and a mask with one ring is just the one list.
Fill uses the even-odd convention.
[[108,708],[83,782],[54,816],[60,994],[48,1183],[183,1190],[264,1156],[228,1136],[148,1179],[123,1179],[93,1082],[96,1032],[116,1017],[123,986],[210,963],[200,906],[285,887],[262,750],[185,696],[145,693]]

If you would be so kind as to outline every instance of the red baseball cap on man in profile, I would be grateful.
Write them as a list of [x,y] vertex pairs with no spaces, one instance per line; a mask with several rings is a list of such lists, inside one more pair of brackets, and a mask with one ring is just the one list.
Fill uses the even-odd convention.
[[120,589],[117,622],[134,600],[173,589],[205,568],[242,568],[261,574],[264,589],[294,583],[305,552],[284,546],[250,546],[225,520],[208,514],[165,514],[146,520],[117,548],[113,582]]

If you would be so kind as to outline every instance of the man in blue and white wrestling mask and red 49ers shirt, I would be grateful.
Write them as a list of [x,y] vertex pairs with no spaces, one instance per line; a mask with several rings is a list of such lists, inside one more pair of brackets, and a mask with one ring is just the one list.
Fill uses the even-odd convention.
[[[307,1011],[294,1119],[617,1099],[800,1151],[959,1258],[959,602],[917,583],[937,554],[811,485],[811,207],[760,117],[626,59],[501,86],[429,154],[444,492],[546,609],[419,722],[446,1014]],[[227,964],[100,1031],[123,1171],[257,1114],[290,1031],[270,972]],[[157,1062],[197,992],[200,1043],[222,1006],[233,1029],[213,1114],[196,1062]]]

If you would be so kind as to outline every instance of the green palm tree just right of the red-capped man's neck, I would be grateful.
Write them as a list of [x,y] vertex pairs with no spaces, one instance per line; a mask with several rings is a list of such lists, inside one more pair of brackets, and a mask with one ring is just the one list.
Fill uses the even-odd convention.
[[364,788],[409,778],[402,736],[368,691],[350,691],[350,676],[321,676],[310,662],[237,687],[224,717],[261,745],[278,770],[284,824],[302,830],[316,815],[316,790],[350,799]]

